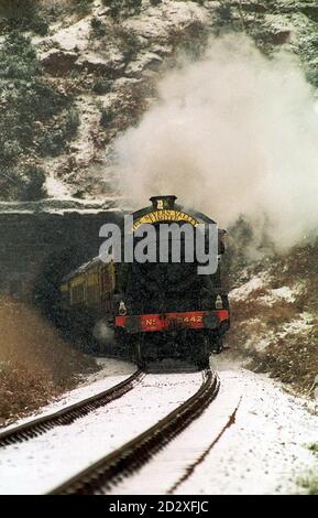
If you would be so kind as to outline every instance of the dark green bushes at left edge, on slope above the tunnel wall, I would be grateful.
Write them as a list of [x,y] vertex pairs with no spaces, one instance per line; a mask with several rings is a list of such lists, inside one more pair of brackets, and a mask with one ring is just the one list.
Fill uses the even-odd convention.
[[[62,152],[77,132],[78,112],[68,97],[45,83],[30,39],[17,31],[8,34],[0,62],[1,198],[39,199],[45,195],[45,173],[34,165],[23,166],[25,158],[36,148],[43,154]],[[45,131],[52,119],[55,126]]]

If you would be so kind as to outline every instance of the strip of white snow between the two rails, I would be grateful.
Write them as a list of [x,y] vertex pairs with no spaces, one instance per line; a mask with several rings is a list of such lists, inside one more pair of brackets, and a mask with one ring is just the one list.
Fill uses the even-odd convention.
[[[146,375],[122,398],[0,456],[0,494],[42,494],[152,427],[201,385],[200,373]],[[101,382],[101,381],[97,381]],[[87,387],[89,396],[90,387]]]

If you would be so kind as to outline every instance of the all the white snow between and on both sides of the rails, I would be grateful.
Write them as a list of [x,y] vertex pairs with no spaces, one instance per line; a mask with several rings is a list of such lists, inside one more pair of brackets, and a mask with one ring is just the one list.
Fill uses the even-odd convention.
[[[98,393],[135,367],[100,360],[102,369],[43,413]],[[318,441],[310,402],[283,391],[278,382],[213,358],[221,389],[210,407],[113,494],[166,494],[201,455],[176,494],[283,494],[299,490],[297,477],[318,471],[308,446]],[[165,417],[199,387],[199,373],[152,374],[121,399],[0,454],[0,494],[46,493]],[[237,410],[235,422],[227,428]],[[312,411],[312,407],[311,407]],[[25,421],[25,420],[24,420]],[[221,433],[223,432],[223,433]],[[219,438],[219,435],[221,436]],[[213,442],[216,442],[213,444]]]

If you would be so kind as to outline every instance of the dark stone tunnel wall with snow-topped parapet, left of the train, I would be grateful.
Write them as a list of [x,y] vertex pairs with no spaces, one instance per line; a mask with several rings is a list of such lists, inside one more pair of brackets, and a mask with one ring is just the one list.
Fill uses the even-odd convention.
[[105,224],[121,220],[122,213],[116,208],[21,211],[17,206],[0,211],[0,295],[20,301],[50,324],[67,330],[59,304],[61,280],[99,253]]

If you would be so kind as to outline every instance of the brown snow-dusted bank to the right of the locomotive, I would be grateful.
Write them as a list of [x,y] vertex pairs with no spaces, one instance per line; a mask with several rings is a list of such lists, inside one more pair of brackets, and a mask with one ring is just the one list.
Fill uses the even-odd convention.
[[[317,376],[318,242],[232,267],[228,344],[257,371],[314,396]],[[318,378],[317,378],[318,379]]]

